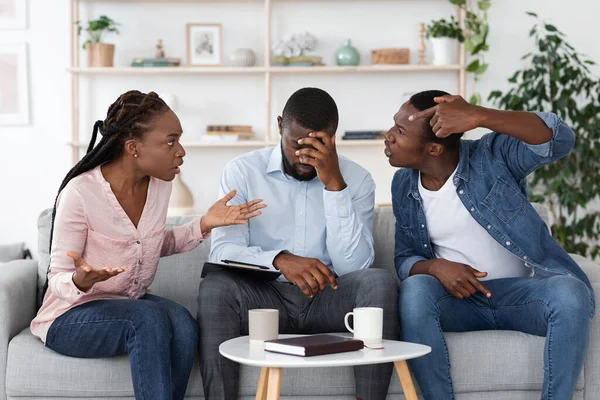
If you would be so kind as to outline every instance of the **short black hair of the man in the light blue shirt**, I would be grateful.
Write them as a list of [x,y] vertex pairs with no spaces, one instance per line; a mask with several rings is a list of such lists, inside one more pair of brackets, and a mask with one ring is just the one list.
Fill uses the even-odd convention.
[[303,128],[330,135],[335,134],[339,122],[335,101],[326,91],[317,88],[303,88],[292,94],[281,117],[285,126],[296,121]]

